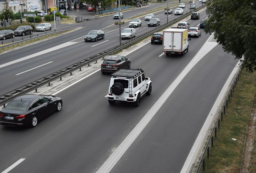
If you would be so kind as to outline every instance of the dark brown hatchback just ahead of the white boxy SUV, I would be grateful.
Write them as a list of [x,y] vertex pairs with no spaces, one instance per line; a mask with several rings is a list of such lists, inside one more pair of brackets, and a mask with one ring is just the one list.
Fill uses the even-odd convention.
[[115,72],[120,68],[130,68],[131,62],[128,58],[119,55],[111,55],[105,58],[101,64],[101,72]]

